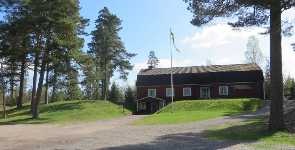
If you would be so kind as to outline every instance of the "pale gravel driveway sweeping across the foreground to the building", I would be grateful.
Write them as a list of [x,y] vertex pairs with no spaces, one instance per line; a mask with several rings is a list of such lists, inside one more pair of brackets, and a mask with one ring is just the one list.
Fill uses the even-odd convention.
[[[294,101],[284,101],[284,106],[294,107]],[[245,141],[204,139],[201,132],[210,126],[268,114],[266,106],[244,115],[163,126],[125,125],[142,115],[71,125],[0,126],[0,149],[255,149],[246,146]]]

